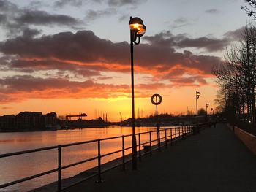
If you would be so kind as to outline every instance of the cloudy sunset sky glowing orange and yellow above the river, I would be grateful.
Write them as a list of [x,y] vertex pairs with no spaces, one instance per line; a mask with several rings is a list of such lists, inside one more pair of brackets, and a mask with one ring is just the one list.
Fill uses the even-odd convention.
[[131,117],[129,17],[147,31],[134,46],[135,113],[214,108],[211,70],[251,22],[241,0],[0,0],[0,115],[56,112]]

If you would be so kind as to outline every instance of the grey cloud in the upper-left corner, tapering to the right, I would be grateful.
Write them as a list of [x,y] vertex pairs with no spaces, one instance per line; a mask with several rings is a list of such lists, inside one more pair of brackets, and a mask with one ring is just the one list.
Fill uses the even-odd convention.
[[7,33],[7,37],[23,34],[24,30],[34,26],[69,26],[75,28],[82,23],[69,15],[50,14],[37,10],[35,4],[39,6],[40,2],[32,1],[29,7],[20,8],[10,1],[0,0],[0,27]]

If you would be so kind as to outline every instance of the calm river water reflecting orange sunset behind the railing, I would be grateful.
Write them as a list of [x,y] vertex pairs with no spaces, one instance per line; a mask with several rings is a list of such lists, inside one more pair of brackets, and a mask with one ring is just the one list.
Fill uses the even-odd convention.
[[[136,128],[136,133],[154,130],[156,130],[156,128],[138,127]],[[0,133],[0,154],[127,134],[132,134],[131,127]],[[148,142],[148,138],[148,134],[143,134],[141,136],[141,142]],[[152,134],[152,139],[156,138],[157,135]],[[125,137],[125,147],[130,146],[131,137]],[[113,152],[114,150],[121,150],[121,139],[111,139],[101,143],[102,155]],[[131,153],[131,150],[126,151],[126,155],[129,153]],[[64,147],[61,154],[62,166],[95,156],[97,156],[97,142],[75,145],[73,147]],[[117,153],[102,158],[102,164],[120,156],[121,153]],[[0,185],[23,177],[29,177],[33,174],[39,174],[40,172],[45,172],[50,169],[56,169],[57,166],[58,153],[56,149],[0,158]],[[97,166],[97,161],[91,161],[86,164],[64,169],[62,172],[62,178],[72,177],[75,174],[79,174],[80,172],[94,166]],[[12,185],[7,188],[2,188],[0,191],[30,191],[56,180],[57,174],[53,173],[24,183]]]

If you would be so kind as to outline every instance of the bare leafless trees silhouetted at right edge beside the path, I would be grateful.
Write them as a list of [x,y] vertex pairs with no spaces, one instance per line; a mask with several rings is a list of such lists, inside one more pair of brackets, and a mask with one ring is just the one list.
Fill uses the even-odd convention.
[[[225,62],[215,69],[214,75],[225,98],[224,110],[233,110],[233,115],[247,114],[247,119],[256,125],[256,28],[249,24],[244,29],[239,45],[227,50]],[[231,112],[231,111],[230,111]]]

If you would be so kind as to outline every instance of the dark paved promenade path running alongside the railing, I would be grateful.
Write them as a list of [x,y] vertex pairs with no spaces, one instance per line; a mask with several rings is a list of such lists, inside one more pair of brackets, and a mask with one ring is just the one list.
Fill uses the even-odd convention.
[[224,124],[207,128],[151,157],[138,170],[120,168],[67,189],[73,191],[256,191],[256,157]]

